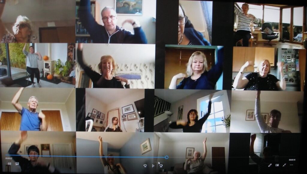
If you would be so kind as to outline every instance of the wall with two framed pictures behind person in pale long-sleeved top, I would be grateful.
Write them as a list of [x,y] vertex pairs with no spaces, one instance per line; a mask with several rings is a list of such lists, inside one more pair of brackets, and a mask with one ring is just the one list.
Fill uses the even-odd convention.
[[[282,113],[278,128],[301,132],[296,102],[261,101],[261,113],[270,113],[272,109]],[[260,132],[256,120],[245,121],[246,110],[255,110],[255,101],[231,101],[230,132]]]

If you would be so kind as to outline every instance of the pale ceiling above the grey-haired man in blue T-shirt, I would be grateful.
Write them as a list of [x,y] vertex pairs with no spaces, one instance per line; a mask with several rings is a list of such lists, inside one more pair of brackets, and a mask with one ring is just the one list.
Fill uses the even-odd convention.
[[[0,101],[11,102],[19,89],[0,88]],[[74,88],[25,88],[19,102],[28,102],[31,96],[35,96],[39,103],[65,103],[72,92],[75,93]]]

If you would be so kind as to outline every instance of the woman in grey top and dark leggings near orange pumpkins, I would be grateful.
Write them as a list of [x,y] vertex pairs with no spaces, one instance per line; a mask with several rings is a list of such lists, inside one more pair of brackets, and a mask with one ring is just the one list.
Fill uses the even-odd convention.
[[34,47],[30,46],[29,47],[29,51],[26,51],[27,44],[25,44],[25,46],[23,47],[22,52],[25,54],[26,58],[27,58],[27,72],[30,74],[30,78],[31,78],[31,83],[32,83],[32,88],[34,88],[34,74],[37,80],[37,86],[39,88],[41,88],[41,84],[40,84],[40,72],[38,69],[38,61],[37,60],[42,60],[43,58],[41,57],[41,53],[36,52],[34,53]]

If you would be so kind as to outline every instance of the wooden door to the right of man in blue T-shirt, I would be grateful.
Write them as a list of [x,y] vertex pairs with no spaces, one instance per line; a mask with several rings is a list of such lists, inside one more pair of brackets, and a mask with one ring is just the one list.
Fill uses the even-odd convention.
[[42,111],[46,116],[48,131],[63,131],[60,111]]

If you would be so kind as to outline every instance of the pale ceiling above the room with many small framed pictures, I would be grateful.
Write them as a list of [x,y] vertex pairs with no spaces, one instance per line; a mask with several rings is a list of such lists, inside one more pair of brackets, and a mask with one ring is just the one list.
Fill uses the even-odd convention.
[[[119,101],[127,95],[134,93],[143,93],[144,89],[103,89],[103,88],[87,88],[85,89],[86,95],[91,96],[103,103],[112,103]],[[145,94],[144,94],[145,95]]]

